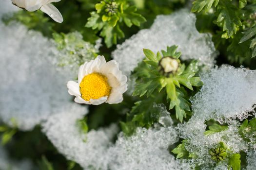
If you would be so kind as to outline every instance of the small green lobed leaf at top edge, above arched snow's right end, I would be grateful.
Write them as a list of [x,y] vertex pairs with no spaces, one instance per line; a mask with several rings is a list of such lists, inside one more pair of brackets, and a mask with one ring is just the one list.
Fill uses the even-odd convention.
[[219,0],[195,0],[193,2],[193,6],[191,9],[191,12],[200,12],[201,10],[204,10],[204,12],[207,12],[211,9],[211,7],[216,7]]

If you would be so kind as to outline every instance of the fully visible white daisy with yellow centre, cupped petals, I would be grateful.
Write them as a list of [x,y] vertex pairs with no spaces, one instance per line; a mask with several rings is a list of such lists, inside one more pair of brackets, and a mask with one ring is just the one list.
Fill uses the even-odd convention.
[[76,96],[75,102],[99,105],[123,101],[127,90],[127,77],[122,75],[116,60],[106,62],[104,56],[85,62],[78,72],[78,83],[67,83],[68,93]]

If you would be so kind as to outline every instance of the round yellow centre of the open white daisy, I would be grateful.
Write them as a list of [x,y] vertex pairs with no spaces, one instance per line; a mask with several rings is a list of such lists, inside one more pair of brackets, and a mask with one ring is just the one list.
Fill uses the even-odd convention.
[[100,73],[91,73],[83,77],[80,85],[81,97],[85,101],[109,96],[111,87],[106,76]]

